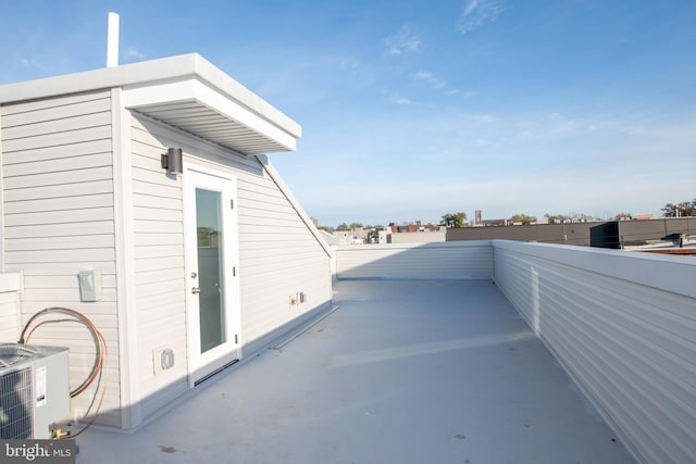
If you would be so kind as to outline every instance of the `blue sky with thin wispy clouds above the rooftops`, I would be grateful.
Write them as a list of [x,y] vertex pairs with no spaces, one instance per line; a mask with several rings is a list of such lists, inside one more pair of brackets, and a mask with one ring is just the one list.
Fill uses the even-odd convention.
[[198,52],[303,128],[321,224],[654,213],[696,197],[692,0],[0,0],[0,84]]

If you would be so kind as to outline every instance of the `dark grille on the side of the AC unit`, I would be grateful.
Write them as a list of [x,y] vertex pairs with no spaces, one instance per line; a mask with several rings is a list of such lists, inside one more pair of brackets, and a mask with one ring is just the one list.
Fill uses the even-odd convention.
[[32,367],[0,375],[0,439],[32,438]]

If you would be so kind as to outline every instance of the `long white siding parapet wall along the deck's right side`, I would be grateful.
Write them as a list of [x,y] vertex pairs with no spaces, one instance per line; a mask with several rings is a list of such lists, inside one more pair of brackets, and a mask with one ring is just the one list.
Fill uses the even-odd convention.
[[495,279],[650,463],[696,455],[696,262],[495,241]]

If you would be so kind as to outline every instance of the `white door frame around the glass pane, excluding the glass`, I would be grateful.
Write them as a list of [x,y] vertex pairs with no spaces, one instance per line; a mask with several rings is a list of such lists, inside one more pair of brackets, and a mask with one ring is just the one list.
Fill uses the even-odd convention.
[[[188,354],[188,384],[215,374],[224,366],[241,359],[241,304],[239,293],[239,239],[237,220],[237,179],[224,171],[192,164],[184,160],[182,200],[184,210],[184,254],[186,294],[186,344]],[[196,188],[223,192],[223,281],[226,341],[204,353],[200,352],[199,298],[191,290],[198,287],[198,234],[196,229]],[[229,202],[228,204],[226,204]]]

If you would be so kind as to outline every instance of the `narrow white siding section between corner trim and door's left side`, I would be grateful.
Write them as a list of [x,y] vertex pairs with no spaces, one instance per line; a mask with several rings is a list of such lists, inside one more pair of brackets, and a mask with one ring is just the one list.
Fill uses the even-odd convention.
[[[184,273],[182,179],[165,175],[164,147],[136,117],[130,121],[135,314],[142,417],[163,407],[188,388]],[[152,352],[172,348],[175,364],[157,376]]]

